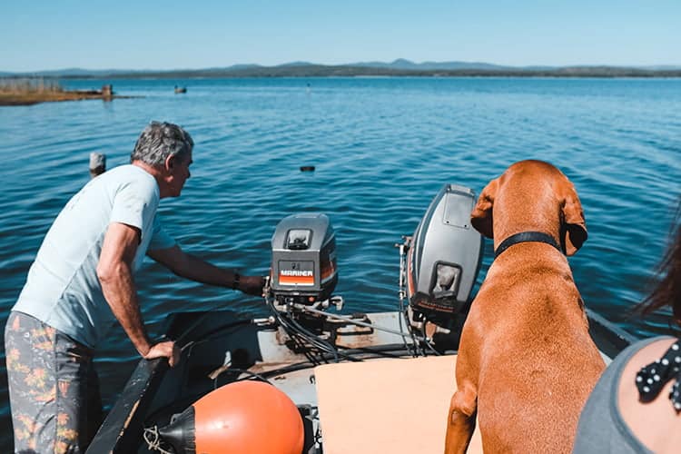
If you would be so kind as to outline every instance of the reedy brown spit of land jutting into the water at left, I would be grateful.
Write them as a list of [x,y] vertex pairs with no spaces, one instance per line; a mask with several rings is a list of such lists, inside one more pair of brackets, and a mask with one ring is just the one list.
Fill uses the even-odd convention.
[[0,79],[0,106],[82,101],[85,99],[111,101],[114,98],[121,97],[127,96],[115,95],[112,85],[104,85],[101,90],[64,90],[56,79],[51,78]]

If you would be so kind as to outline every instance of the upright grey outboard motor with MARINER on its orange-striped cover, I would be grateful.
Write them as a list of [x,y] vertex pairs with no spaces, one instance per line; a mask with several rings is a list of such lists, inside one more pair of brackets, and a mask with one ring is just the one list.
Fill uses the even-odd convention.
[[326,214],[292,214],[271,239],[271,293],[281,305],[327,301],[338,282],[336,238]]

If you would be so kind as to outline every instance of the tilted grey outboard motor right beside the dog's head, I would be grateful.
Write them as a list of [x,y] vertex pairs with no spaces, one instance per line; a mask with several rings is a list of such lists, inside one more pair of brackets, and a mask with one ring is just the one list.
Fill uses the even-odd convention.
[[431,321],[449,329],[466,316],[482,260],[482,236],[470,225],[475,202],[469,188],[445,184],[405,243],[410,324],[416,328]]

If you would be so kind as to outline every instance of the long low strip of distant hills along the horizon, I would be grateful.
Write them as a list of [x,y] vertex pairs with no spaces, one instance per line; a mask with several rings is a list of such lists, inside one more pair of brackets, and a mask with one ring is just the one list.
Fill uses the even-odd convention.
[[233,64],[225,67],[174,70],[88,70],[66,68],[32,73],[0,73],[0,77],[59,78],[192,78],[192,77],[324,77],[324,76],[530,76],[530,77],[681,77],[681,66],[504,66],[482,62],[422,62],[403,58],[390,63],[313,64],[291,62],[274,66]]

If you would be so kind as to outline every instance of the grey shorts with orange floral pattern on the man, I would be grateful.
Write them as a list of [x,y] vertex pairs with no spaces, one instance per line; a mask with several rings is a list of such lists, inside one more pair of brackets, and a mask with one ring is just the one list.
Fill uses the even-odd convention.
[[5,355],[15,452],[84,452],[102,422],[93,350],[13,311]]

